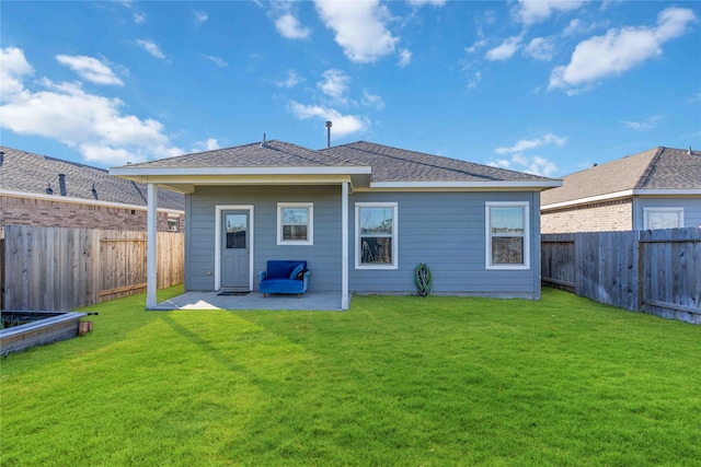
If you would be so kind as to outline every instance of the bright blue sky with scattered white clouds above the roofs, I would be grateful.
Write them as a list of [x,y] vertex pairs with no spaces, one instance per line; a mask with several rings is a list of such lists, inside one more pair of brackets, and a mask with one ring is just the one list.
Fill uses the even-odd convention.
[[4,145],[108,167],[366,140],[559,177],[701,148],[691,1],[2,1]]

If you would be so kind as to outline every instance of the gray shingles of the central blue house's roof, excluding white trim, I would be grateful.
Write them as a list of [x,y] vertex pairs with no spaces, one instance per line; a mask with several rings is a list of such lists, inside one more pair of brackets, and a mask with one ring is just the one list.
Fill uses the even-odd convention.
[[[372,182],[552,182],[537,175],[358,141],[320,151],[283,141],[129,165],[136,168],[371,166]],[[124,168],[124,167],[120,167]]]

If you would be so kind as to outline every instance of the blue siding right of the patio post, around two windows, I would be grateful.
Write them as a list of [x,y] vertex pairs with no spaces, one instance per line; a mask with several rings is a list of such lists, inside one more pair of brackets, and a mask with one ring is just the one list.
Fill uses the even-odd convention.
[[[485,202],[528,201],[530,269],[487,270]],[[355,203],[398,203],[398,269],[355,268]],[[415,293],[414,270],[425,262],[434,292],[540,297],[540,197],[538,192],[358,192],[349,198],[349,290]]]

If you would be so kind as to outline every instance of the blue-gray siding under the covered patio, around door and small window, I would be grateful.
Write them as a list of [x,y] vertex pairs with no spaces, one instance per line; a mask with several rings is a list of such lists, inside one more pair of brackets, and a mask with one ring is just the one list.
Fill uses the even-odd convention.
[[[277,203],[313,202],[313,245],[277,245]],[[243,186],[197,187],[187,196],[185,288],[215,289],[215,215],[217,206],[251,205],[253,211],[253,270],[265,270],[269,259],[304,259],[311,270],[309,292],[341,289],[341,187]],[[253,279],[257,290],[257,276]]]

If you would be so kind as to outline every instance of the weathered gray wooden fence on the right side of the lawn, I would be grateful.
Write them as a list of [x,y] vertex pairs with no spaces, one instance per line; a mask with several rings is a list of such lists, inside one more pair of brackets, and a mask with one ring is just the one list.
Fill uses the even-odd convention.
[[701,229],[541,236],[544,285],[701,324]]

